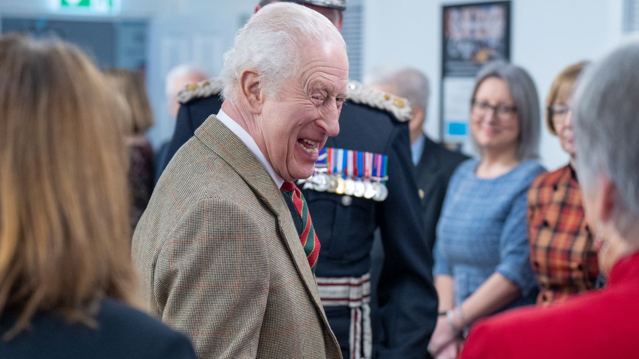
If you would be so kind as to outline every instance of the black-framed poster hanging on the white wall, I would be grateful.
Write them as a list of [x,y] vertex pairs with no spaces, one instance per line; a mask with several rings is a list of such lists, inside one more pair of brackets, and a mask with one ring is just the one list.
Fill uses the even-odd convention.
[[470,97],[479,69],[510,59],[510,1],[442,6],[440,135],[449,148],[470,143]]

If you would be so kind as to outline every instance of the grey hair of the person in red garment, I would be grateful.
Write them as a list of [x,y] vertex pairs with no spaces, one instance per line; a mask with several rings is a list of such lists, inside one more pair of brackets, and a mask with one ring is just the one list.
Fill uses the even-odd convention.
[[639,42],[586,68],[574,95],[574,132],[581,187],[596,178],[617,189],[613,223],[624,236],[639,221]]

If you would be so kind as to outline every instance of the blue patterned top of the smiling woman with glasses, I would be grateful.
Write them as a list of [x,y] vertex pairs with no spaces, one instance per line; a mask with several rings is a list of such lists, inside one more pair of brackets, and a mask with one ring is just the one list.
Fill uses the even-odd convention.
[[496,271],[521,289],[521,298],[504,309],[532,304],[537,283],[530,266],[527,195],[545,171],[525,160],[497,178],[477,178],[478,160],[456,169],[437,225],[433,275],[454,277],[455,304],[461,304]]

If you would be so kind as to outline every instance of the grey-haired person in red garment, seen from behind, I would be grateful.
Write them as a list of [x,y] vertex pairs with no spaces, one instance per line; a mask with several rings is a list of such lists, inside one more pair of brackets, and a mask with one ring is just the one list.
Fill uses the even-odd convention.
[[578,177],[601,291],[513,310],[473,328],[475,358],[639,358],[639,42],[587,68],[573,110]]

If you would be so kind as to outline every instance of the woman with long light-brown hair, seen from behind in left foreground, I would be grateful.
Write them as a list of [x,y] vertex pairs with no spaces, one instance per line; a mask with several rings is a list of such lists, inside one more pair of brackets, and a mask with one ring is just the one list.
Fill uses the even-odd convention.
[[0,358],[194,358],[131,307],[118,116],[79,50],[0,37]]

